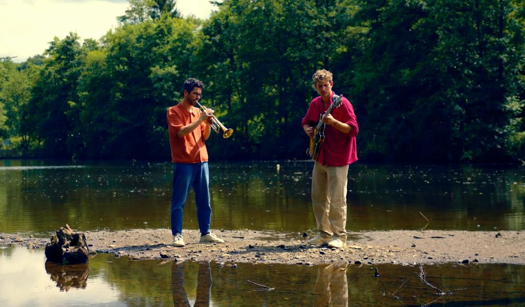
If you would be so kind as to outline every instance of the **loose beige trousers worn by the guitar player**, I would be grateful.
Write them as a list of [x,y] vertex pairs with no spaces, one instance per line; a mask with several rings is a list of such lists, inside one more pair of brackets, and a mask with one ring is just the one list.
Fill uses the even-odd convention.
[[348,165],[322,166],[316,161],[312,172],[312,206],[317,230],[324,238],[346,242],[346,185]]

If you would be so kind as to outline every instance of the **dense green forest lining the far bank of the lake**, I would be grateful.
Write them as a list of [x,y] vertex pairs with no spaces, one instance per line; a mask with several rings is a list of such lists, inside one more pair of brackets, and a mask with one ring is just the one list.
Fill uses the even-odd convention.
[[212,160],[307,159],[300,122],[324,68],[365,161],[525,159],[522,0],[224,0],[206,20],[175,4],[130,0],[100,39],[3,59],[0,150],[169,160],[166,109],[192,76],[235,130],[208,140]]

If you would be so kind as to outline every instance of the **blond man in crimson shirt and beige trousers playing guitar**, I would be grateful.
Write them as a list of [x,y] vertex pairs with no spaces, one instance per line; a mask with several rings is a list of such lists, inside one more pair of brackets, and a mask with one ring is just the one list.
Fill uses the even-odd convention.
[[[308,112],[301,121],[304,132],[314,136],[314,126],[332,104],[332,73],[318,70],[312,76],[313,87],[319,97],[310,102]],[[346,245],[346,185],[348,166],[358,160],[355,136],[359,126],[354,108],[342,98],[342,103],[322,118],[326,125],[324,141],[312,171],[312,207],[319,235],[308,243],[328,244],[341,248]]]

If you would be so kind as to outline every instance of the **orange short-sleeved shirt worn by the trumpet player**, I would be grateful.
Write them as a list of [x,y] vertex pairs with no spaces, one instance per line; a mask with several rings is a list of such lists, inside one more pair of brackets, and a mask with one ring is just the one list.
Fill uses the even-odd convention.
[[177,163],[199,163],[208,161],[208,151],[204,145],[203,133],[205,124],[195,128],[190,134],[178,137],[182,127],[194,123],[201,116],[201,110],[192,106],[188,112],[182,103],[167,109],[166,120],[170,134],[171,161]]

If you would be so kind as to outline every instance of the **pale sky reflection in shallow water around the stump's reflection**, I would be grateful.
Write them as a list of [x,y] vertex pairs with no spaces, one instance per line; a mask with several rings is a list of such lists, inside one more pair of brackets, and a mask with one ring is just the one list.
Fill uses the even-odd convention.
[[0,306],[125,306],[100,266],[46,265],[43,249],[0,248]]

